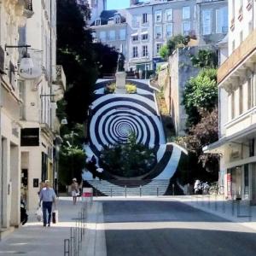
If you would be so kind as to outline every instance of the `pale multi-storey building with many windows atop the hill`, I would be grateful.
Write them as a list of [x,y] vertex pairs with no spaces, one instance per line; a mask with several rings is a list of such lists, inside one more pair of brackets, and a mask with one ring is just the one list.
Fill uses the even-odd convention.
[[[99,7],[98,13],[101,10]],[[108,15],[111,14],[111,11],[107,12]],[[119,12],[125,17],[126,23],[124,24],[126,39],[121,44],[127,49],[125,56],[128,70],[155,69],[156,63],[163,61],[160,58],[161,46],[172,36],[178,34],[195,36],[201,45],[216,44],[224,38],[228,27],[227,0],[174,0],[146,3],[131,1],[130,8]],[[105,23],[101,24],[100,15],[94,20],[92,28],[96,30],[97,40],[103,44],[113,45],[112,42],[105,40],[104,31],[115,29],[111,25],[115,13],[118,12],[113,11],[112,16],[108,16],[108,28]],[[101,14],[101,16],[106,15],[106,11]]]

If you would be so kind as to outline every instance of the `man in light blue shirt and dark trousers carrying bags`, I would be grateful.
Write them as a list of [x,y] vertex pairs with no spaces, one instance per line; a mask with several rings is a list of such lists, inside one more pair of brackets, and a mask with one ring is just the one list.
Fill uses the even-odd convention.
[[[40,198],[39,207],[41,206],[41,201],[43,201],[44,227],[46,226],[46,224],[50,226],[50,218],[51,218],[53,203],[55,204],[55,208],[56,208],[56,195],[55,195],[55,190],[49,187],[49,180],[45,181],[44,188],[41,189],[39,198]],[[48,216],[47,216],[47,213],[48,213]]]

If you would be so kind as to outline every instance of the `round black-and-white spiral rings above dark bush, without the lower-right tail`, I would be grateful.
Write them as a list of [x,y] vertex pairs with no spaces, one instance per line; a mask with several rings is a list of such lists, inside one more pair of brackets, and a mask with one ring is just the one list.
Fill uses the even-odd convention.
[[144,95],[98,95],[92,103],[88,126],[93,154],[99,156],[105,146],[126,143],[131,134],[137,143],[157,151],[166,141],[156,109],[151,91]]

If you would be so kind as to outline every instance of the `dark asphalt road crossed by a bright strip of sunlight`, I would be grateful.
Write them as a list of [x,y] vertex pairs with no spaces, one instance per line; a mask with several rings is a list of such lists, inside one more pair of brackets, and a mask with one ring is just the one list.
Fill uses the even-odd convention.
[[255,256],[254,230],[177,201],[103,201],[108,256]]

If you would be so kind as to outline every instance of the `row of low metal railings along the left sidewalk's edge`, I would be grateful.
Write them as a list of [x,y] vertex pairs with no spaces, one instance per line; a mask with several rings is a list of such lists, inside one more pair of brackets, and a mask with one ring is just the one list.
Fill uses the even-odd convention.
[[79,256],[83,248],[83,239],[87,229],[88,206],[91,202],[83,201],[75,227],[70,228],[70,236],[64,239],[64,256]]

